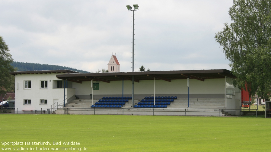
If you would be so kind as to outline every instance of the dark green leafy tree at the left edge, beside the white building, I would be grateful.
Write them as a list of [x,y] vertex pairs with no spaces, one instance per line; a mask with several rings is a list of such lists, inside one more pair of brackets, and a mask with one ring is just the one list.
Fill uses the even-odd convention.
[[11,86],[14,87],[14,76],[9,74],[15,69],[11,66],[13,59],[9,53],[8,45],[5,40],[0,36],[0,94],[5,95]]

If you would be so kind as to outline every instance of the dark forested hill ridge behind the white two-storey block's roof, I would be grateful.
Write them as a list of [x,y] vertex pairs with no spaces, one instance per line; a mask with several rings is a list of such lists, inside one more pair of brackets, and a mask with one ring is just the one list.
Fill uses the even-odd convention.
[[49,64],[38,64],[38,63],[24,63],[24,62],[13,62],[11,64],[14,68],[17,67],[17,71],[40,71],[40,70],[72,70],[81,73],[90,73],[84,70],[73,69],[70,67],[63,67],[58,65]]

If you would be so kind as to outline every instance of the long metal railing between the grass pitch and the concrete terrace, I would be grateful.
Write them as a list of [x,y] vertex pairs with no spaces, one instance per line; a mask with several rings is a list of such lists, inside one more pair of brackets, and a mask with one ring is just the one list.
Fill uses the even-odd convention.
[[[41,108],[41,114],[42,112],[45,113],[45,110],[42,109],[48,109],[48,108]],[[57,108],[53,108],[53,109],[57,109]],[[215,110],[219,110],[219,116],[221,116],[221,112],[224,110],[244,110],[244,109],[224,109],[224,108],[80,108],[80,107],[62,107],[62,110],[66,110],[68,114],[68,110],[71,109],[90,109],[94,111],[94,115],[95,115],[95,109],[110,109],[110,110],[114,110],[114,111],[120,111],[119,109],[122,109],[122,114],[124,115],[124,109],[128,110],[128,109],[152,109],[152,115],[154,115],[154,112],[162,112],[161,110],[166,110],[164,112],[185,112],[185,116],[187,116],[187,112],[196,112],[196,111],[188,111],[188,110],[214,110],[212,112],[216,112]],[[168,111],[168,110],[173,110],[173,109],[177,109],[177,110],[184,110],[184,111]],[[155,111],[157,110],[157,111]],[[256,110],[256,117],[257,117],[257,111],[258,109],[245,109],[245,110]],[[105,110],[106,111],[106,110]],[[210,111],[200,111],[200,112],[210,112]]]

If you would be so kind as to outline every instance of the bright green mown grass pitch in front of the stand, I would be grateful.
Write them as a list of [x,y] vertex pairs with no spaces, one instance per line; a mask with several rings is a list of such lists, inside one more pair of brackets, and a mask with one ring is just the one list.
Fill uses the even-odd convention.
[[[271,119],[248,117],[1,114],[3,148],[84,151],[271,151]],[[26,145],[25,142],[51,145]],[[80,145],[63,145],[63,142]],[[3,145],[22,142],[24,145]],[[61,142],[61,145],[53,145]],[[12,143],[11,143],[12,144]],[[16,150],[16,149],[15,149]],[[42,150],[18,150],[42,151]],[[46,150],[51,151],[51,150]],[[59,151],[79,151],[63,150]]]

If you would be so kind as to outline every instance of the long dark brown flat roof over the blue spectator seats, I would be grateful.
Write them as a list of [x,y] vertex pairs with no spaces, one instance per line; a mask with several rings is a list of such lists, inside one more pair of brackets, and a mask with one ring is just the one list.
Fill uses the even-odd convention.
[[226,69],[220,70],[179,70],[179,71],[143,71],[143,72],[117,72],[117,73],[68,73],[57,74],[58,79],[68,80],[72,82],[82,83],[83,81],[102,81],[110,83],[110,81],[132,80],[134,76],[135,82],[140,80],[161,79],[171,82],[174,79],[222,79],[225,76],[235,79],[236,77],[231,71]]

